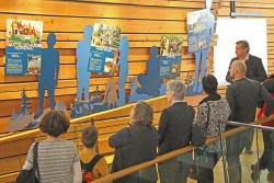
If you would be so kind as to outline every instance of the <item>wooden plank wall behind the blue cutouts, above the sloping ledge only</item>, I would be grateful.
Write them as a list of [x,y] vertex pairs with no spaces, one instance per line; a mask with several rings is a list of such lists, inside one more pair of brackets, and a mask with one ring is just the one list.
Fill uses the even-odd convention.
[[[5,21],[8,18],[44,22],[43,46],[49,32],[57,35],[56,48],[60,53],[60,73],[56,89],[57,101],[69,107],[77,92],[76,45],[82,38],[84,25],[94,22],[118,25],[129,39],[129,76],[146,72],[149,47],[160,45],[162,34],[183,34],[186,46],[186,13],[203,9],[203,0],[10,0],[0,1],[0,134],[7,131],[10,115],[20,108],[21,92],[37,110],[37,78],[34,76],[4,76]],[[214,8],[217,3],[214,3]],[[214,10],[213,10],[214,12]],[[192,55],[184,47],[182,76],[194,71]],[[117,77],[116,77],[117,79]],[[91,77],[91,91],[95,85],[104,90],[106,78]],[[128,84],[127,84],[128,87]],[[48,100],[45,100],[48,106]]]

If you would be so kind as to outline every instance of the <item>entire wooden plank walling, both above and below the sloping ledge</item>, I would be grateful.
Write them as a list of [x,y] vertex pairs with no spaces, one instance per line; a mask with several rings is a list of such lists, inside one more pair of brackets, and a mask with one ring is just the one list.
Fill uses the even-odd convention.
[[[274,72],[274,2],[272,0],[238,0],[239,11],[260,11],[267,18],[269,31],[269,71]],[[262,7],[261,7],[262,5]],[[183,34],[186,41],[185,15],[187,12],[204,8],[204,0],[85,0],[85,1],[42,1],[42,0],[10,0],[0,1],[0,133],[7,127],[9,116],[13,108],[20,107],[20,94],[26,89],[34,106],[37,107],[37,78],[35,77],[4,77],[4,35],[5,19],[20,18],[44,21],[44,42],[49,32],[57,34],[56,47],[60,52],[60,81],[56,91],[57,99],[64,101],[67,106],[76,95],[76,44],[82,38],[82,28],[87,24],[102,22],[118,25],[123,34],[129,37],[129,77],[145,72],[149,47],[159,46],[162,34]],[[215,1],[213,12],[217,10],[218,1]],[[229,1],[222,0],[218,14],[229,14]],[[186,42],[184,42],[186,46]],[[212,60],[212,54],[210,58]],[[194,58],[183,50],[182,76],[186,71],[194,71]],[[91,90],[95,84],[104,89],[105,78],[91,78]],[[220,89],[220,93],[225,90]],[[189,99],[193,105],[199,98]],[[151,102],[155,107],[155,124],[160,113],[167,106],[164,99]],[[48,103],[46,102],[46,105]],[[129,121],[130,107],[95,117],[100,131],[99,146],[102,153],[111,153],[107,146],[109,136],[123,128]],[[80,148],[79,137],[81,129],[89,124],[72,125],[65,139],[75,140]],[[24,163],[30,145],[43,139],[41,134],[25,139],[0,144],[0,183],[13,182],[15,175]]]

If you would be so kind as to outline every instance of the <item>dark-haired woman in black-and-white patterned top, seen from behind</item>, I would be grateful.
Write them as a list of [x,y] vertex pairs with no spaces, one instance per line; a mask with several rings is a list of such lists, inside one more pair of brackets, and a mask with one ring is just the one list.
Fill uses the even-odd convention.
[[[208,137],[218,136],[225,131],[226,122],[230,115],[230,107],[226,99],[217,93],[218,81],[207,75],[202,80],[204,98],[198,105],[194,124],[204,129]],[[217,164],[221,152],[220,141],[204,146],[195,151],[197,163],[197,183],[213,183],[213,169]]]

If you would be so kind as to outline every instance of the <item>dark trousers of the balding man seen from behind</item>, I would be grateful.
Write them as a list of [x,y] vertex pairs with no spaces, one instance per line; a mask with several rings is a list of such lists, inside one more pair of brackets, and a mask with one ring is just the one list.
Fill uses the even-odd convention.
[[227,138],[227,164],[229,183],[241,183],[241,161],[242,150],[250,140],[250,131],[247,129]]

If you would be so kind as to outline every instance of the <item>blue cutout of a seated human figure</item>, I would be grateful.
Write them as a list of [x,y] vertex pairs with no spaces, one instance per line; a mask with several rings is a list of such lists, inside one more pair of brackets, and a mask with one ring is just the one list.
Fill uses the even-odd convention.
[[150,58],[147,62],[147,73],[138,75],[138,82],[141,88],[136,91],[139,94],[148,94],[151,96],[159,96],[161,88],[160,64],[158,59],[158,48],[152,46],[150,48]]

